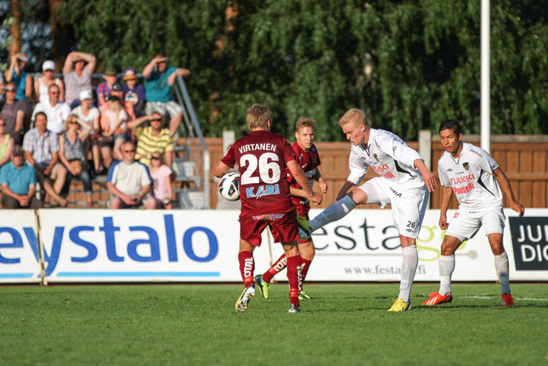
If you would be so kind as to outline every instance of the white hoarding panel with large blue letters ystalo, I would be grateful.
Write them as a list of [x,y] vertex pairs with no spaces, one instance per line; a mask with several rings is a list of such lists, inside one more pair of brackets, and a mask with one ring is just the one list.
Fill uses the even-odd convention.
[[49,282],[241,281],[238,211],[39,212]]

